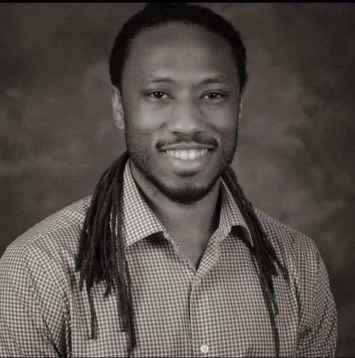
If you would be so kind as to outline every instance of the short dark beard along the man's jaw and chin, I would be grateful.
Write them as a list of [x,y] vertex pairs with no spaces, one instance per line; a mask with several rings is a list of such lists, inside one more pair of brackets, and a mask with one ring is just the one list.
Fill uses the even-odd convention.
[[[145,178],[148,185],[151,185],[155,190],[158,190],[165,197],[168,197],[173,202],[176,202],[180,205],[190,205],[194,202],[201,200],[209,192],[211,192],[214,185],[217,183],[217,180],[220,178],[224,170],[231,164],[234,158],[234,153],[236,152],[236,143],[237,143],[237,134],[238,128],[236,129],[236,134],[234,140],[229,143],[229,146],[224,148],[222,151],[222,161],[219,166],[219,170],[214,177],[209,180],[209,183],[206,185],[196,185],[194,183],[186,183],[181,185],[178,188],[173,188],[166,185],[163,180],[159,178],[156,173],[151,170],[149,163],[151,163],[151,155],[149,148],[141,145],[142,141],[134,138],[129,130],[129,125],[126,123],[126,146],[127,151],[129,152],[129,158],[139,170],[143,178]],[[201,141],[195,141],[196,143],[201,143]]]

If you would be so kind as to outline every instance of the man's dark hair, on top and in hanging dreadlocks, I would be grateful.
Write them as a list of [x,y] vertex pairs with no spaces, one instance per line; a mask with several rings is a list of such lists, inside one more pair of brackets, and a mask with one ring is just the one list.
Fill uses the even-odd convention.
[[[228,21],[209,9],[178,3],[148,4],[124,24],[114,42],[109,58],[112,84],[121,91],[122,72],[133,38],[145,28],[173,21],[200,25],[228,41],[238,69],[239,85],[242,92],[248,76],[246,73],[246,50],[238,31]],[[128,159],[129,153],[123,153],[104,171],[97,183],[82,225],[75,269],[80,271],[80,291],[84,285],[87,291],[91,317],[90,338],[95,339],[96,317],[91,289],[94,283],[104,281],[106,283],[104,295],[107,296],[112,291],[116,294],[121,332],[127,333],[127,354],[130,357],[136,346],[136,335],[131,280],[122,234],[123,173]],[[280,263],[273,246],[268,241],[233,170],[230,167],[226,168],[222,173],[222,178],[231,191],[251,233],[253,245],[245,240],[244,242],[248,244],[256,263],[261,291],[273,329],[275,355],[279,357],[280,337],[275,321],[275,316],[278,315],[278,305],[275,302],[273,276],[278,276],[278,271],[280,271],[285,279],[288,279],[288,272]]]

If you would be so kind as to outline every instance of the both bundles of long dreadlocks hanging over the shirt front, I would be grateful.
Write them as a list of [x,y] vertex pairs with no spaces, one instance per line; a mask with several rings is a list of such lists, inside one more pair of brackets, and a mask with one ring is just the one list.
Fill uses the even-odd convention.
[[[121,230],[123,173],[128,158],[129,154],[125,152],[114,161],[102,174],[94,190],[80,234],[75,269],[80,271],[80,291],[82,291],[84,283],[87,289],[91,316],[90,338],[95,338],[95,312],[91,288],[95,282],[105,281],[104,295],[109,295],[112,289],[116,292],[121,331],[127,332],[127,352],[130,357],[132,349],[136,346],[136,336],[133,323],[131,282]],[[273,276],[278,276],[277,267],[285,279],[288,279],[288,272],[280,263],[273,246],[268,241],[251,203],[246,199],[236,180],[234,171],[230,167],[226,168],[222,173],[222,178],[231,191],[251,232],[253,246],[249,245],[249,249],[258,268],[261,290],[273,328],[275,355],[279,357],[280,337],[275,321],[275,316],[278,315],[278,306],[275,302]]]

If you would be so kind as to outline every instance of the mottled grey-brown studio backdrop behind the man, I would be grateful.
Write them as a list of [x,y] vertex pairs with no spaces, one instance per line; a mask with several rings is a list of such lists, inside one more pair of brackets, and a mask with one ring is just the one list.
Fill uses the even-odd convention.
[[[249,199],[315,239],[355,354],[353,4],[207,4],[244,36],[251,80],[234,169]],[[89,195],[124,150],[107,57],[142,4],[0,5],[0,255]]]

